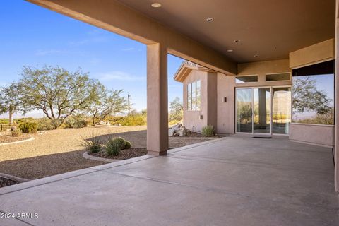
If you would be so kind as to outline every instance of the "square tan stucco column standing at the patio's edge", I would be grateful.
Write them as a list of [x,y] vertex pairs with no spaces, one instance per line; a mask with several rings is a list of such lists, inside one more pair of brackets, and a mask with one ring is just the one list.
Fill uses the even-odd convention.
[[147,46],[147,150],[166,155],[168,150],[167,47]]

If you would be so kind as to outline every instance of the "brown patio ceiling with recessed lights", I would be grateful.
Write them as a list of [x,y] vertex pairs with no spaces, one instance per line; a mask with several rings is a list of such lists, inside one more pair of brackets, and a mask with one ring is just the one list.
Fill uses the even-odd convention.
[[240,63],[287,59],[335,36],[335,0],[119,1]]

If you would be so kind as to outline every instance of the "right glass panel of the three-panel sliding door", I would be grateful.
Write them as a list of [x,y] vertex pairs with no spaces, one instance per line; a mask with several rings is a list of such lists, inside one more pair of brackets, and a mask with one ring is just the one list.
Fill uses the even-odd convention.
[[273,88],[272,133],[288,134],[291,115],[291,88]]

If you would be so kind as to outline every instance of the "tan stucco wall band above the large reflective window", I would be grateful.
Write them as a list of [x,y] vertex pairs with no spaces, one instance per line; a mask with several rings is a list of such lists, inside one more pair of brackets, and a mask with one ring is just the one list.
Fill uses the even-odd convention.
[[317,44],[290,52],[290,68],[316,64],[319,61],[334,59],[335,39],[326,40]]

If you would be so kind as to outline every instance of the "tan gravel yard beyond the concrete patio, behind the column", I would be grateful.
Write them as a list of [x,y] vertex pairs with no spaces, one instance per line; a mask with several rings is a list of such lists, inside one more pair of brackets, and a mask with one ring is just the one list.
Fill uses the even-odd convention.
[[[146,126],[95,126],[83,129],[58,129],[35,135],[34,141],[0,146],[0,173],[25,179],[38,179],[55,174],[106,164],[82,157],[82,136],[114,134],[131,141],[133,147],[146,147]],[[208,141],[201,137],[171,137],[169,147],[177,148]]]

